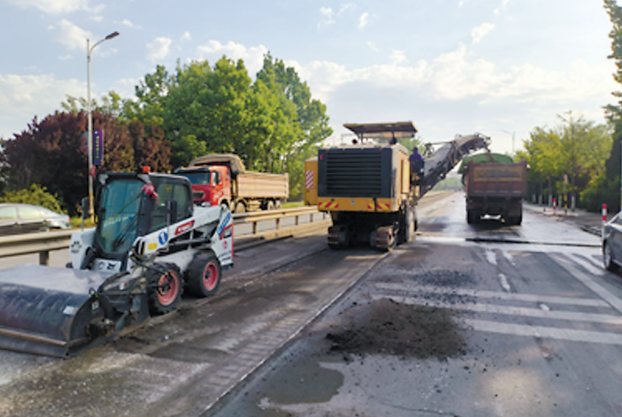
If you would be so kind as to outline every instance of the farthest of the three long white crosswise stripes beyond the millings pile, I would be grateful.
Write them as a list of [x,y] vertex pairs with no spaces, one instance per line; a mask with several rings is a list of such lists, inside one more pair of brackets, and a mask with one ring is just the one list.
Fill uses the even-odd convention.
[[534,303],[549,303],[549,304],[569,304],[579,305],[587,307],[610,307],[610,305],[603,300],[596,298],[574,298],[574,297],[557,297],[546,296],[537,294],[517,294],[517,293],[505,293],[500,291],[476,291],[463,288],[436,287],[432,285],[417,285],[415,283],[391,283],[391,282],[378,282],[375,283],[377,288],[385,290],[395,291],[416,291],[418,293],[436,293],[436,294],[450,294],[450,295],[464,295],[469,297],[478,298],[493,298],[499,300],[510,301],[528,301]]

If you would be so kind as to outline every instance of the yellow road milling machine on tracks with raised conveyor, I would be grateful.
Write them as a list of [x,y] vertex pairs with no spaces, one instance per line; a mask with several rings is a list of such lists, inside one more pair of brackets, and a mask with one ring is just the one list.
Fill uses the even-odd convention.
[[490,138],[456,136],[411,172],[410,150],[397,142],[414,137],[412,122],[345,124],[351,145],[318,150],[305,161],[305,204],[329,212],[328,246],[354,243],[388,251],[409,242],[417,230],[417,201],[445,178],[464,155],[487,148]]

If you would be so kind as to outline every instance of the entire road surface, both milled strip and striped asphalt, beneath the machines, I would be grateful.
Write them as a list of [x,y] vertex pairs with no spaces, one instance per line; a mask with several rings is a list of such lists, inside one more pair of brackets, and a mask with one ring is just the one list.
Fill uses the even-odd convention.
[[620,416],[622,278],[599,238],[526,210],[416,240],[239,252],[217,296],[80,357],[0,353],[0,415]]

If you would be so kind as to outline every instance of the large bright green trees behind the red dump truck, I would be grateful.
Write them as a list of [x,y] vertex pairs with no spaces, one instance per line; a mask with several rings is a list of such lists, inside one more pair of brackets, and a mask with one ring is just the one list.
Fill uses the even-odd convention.
[[330,136],[326,107],[296,71],[270,55],[253,83],[239,60],[213,66],[193,61],[169,76],[158,66],[126,102],[123,120],[160,126],[174,166],[209,153],[235,153],[247,169],[288,173],[290,193],[302,193],[304,160]]

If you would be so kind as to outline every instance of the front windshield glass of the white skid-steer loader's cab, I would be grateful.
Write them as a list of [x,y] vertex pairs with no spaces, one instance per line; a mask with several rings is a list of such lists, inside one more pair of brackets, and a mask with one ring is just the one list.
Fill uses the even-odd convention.
[[144,182],[116,180],[106,184],[101,196],[96,239],[106,253],[125,253],[138,230],[138,213]]

